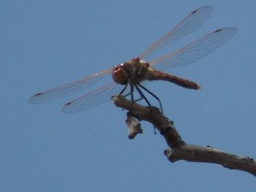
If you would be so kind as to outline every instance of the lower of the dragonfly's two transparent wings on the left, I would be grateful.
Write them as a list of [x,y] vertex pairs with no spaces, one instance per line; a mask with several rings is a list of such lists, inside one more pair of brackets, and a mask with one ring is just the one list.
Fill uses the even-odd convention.
[[65,104],[62,108],[62,112],[71,113],[79,112],[81,110],[89,110],[99,104],[111,101],[111,97],[118,94],[122,88],[124,87],[116,84],[116,82],[111,82],[102,88],[87,93],[84,96],[80,96],[78,99]]

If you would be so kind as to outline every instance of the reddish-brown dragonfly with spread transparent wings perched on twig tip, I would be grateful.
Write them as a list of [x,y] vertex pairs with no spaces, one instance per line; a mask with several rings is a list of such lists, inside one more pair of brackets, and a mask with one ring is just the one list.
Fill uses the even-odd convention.
[[[148,105],[150,105],[142,90],[150,93],[157,100],[159,100],[159,98],[142,85],[143,82],[146,81],[164,80],[167,82],[173,82],[183,88],[194,90],[200,89],[200,85],[197,85],[197,83],[181,77],[176,77],[175,75],[165,73],[164,71],[172,67],[192,64],[200,58],[206,57],[206,55],[212,53],[220,45],[233,37],[233,35],[238,31],[237,28],[219,28],[209,34],[206,34],[206,36],[195,40],[189,45],[162,55],[153,61],[145,61],[144,58],[155,53],[160,48],[175,42],[177,39],[181,39],[181,37],[185,37],[194,32],[210,17],[213,9],[214,7],[212,6],[195,9],[187,15],[186,18],[181,20],[181,22],[178,23],[171,31],[146,48],[146,50],[144,50],[144,52],[137,58],[132,58],[129,61],[118,64],[113,68],[91,74],[90,76],[83,77],[75,82],[70,82],[57,88],[52,88],[48,91],[36,93],[29,99],[29,104],[39,104],[61,99],[65,96],[71,96],[72,94],[79,93],[80,91],[84,91],[86,88],[97,84],[97,82],[103,80],[105,77],[112,77],[111,82],[80,96],[78,99],[69,101],[64,105],[62,111],[64,113],[71,113],[79,112],[81,110],[89,110],[91,107],[96,107],[99,104],[110,101],[110,98],[118,93],[124,94],[124,96],[130,95],[132,101],[145,99]],[[129,89],[127,89],[127,87],[129,87]],[[129,92],[127,92],[127,90]],[[133,93],[135,90],[138,91],[140,99],[134,100]],[[160,100],[159,104],[162,110]]]

